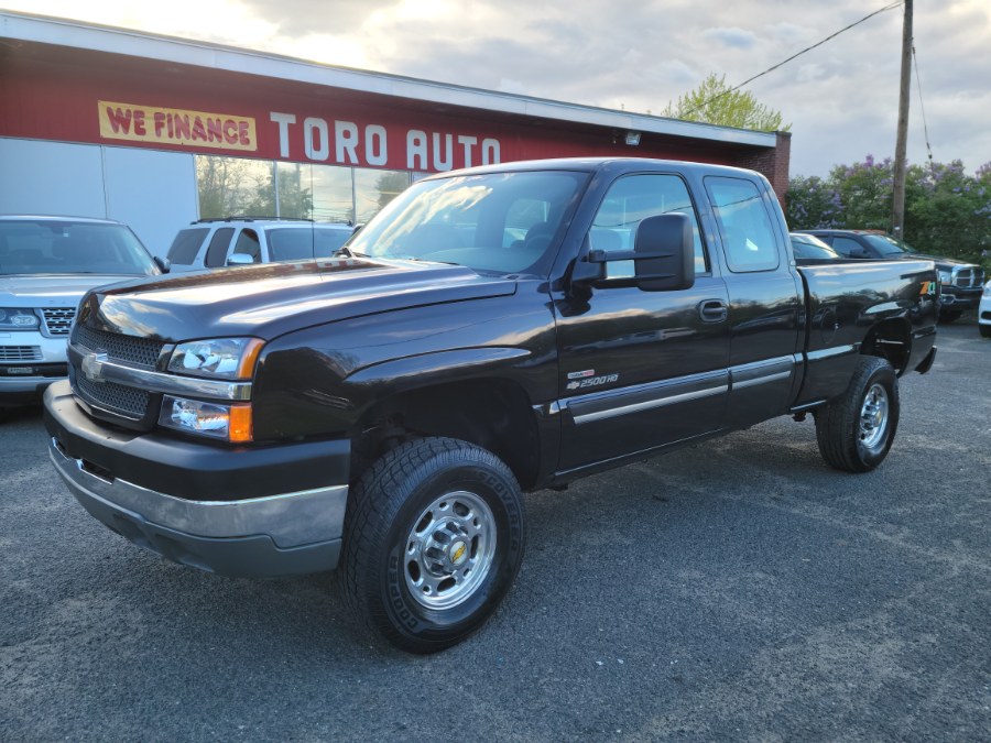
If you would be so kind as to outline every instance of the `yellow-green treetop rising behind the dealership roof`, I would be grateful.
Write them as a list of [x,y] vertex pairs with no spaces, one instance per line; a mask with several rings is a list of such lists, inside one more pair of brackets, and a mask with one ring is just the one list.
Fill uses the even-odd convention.
[[726,75],[717,77],[716,73],[679,96],[677,103],[668,102],[662,116],[765,132],[786,132],[792,128],[792,124],[782,125],[781,111],[759,103],[750,91],[730,90]]

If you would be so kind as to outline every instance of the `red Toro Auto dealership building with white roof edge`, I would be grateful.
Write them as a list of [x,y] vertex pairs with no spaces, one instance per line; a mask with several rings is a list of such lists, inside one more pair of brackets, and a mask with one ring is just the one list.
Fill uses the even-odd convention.
[[107,217],[164,255],[233,215],[367,221],[424,175],[562,156],[760,171],[789,135],[0,11],[0,214]]

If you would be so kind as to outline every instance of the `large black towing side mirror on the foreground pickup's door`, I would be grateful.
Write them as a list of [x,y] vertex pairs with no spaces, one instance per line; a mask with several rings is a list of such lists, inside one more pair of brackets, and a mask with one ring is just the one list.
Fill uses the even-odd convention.
[[[606,263],[633,261],[633,276],[609,278]],[[575,266],[573,281],[592,286],[639,286],[645,292],[671,292],[695,285],[695,248],[687,215],[655,215],[641,220],[633,250],[589,250]]]

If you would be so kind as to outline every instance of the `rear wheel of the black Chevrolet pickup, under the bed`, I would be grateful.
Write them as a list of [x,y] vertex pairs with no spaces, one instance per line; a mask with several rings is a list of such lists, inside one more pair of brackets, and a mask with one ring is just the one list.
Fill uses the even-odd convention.
[[868,472],[887,456],[899,426],[899,378],[885,359],[857,362],[847,391],[815,413],[819,454],[848,472]]

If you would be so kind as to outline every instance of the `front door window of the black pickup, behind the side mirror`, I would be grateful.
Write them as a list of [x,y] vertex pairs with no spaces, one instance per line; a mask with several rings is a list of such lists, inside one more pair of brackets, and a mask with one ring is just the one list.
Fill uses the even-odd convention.
[[[688,215],[695,243],[695,273],[707,273],[708,256],[699,237],[695,207],[684,181],[676,175],[628,175],[612,184],[592,222],[589,242],[592,249],[607,252],[633,250],[641,220],[666,214]],[[632,276],[633,261],[625,264],[627,261],[620,261],[610,265],[610,275]]]

